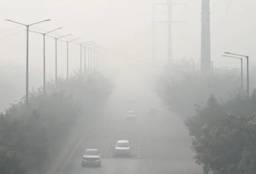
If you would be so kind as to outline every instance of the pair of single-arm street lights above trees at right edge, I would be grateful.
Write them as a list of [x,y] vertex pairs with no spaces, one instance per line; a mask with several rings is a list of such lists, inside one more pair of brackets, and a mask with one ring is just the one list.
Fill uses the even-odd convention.
[[[249,56],[248,55],[240,55],[240,54],[234,54],[234,53],[229,53],[229,52],[224,52],[226,55],[222,55],[223,57],[231,57],[235,59],[240,59],[241,61],[241,95],[243,94],[243,57],[246,58],[246,64],[247,64],[247,97],[250,97],[250,91],[249,91]],[[236,55],[239,57],[235,56],[230,56],[230,55]]]

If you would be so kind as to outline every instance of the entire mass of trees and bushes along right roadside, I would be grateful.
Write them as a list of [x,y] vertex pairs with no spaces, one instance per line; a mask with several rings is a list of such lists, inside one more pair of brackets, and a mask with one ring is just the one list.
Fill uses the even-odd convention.
[[165,74],[156,91],[164,105],[183,116],[194,159],[204,165],[204,172],[255,174],[256,92],[250,99],[246,91],[241,95],[239,71],[218,71],[222,75],[213,79]]

